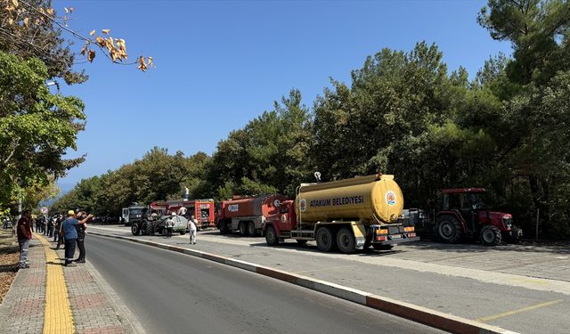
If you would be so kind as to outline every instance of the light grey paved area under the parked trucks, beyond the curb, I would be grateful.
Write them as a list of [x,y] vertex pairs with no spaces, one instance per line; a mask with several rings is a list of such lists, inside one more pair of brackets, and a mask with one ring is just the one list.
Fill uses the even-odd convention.
[[[134,237],[125,226],[89,228]],[[268,247],[263,238],[216,231],[199,232],[197,245],[188,245],[187,235],[134,238],[266,265],[520,333],[567,331],[570,273],[565,264],[570,252],[563,247],[485,248],[420,241],[395,251],[346,255],[320,252],[314,241],[306,247],[294,241]],[[510,275],[518,272],[525,275]]]

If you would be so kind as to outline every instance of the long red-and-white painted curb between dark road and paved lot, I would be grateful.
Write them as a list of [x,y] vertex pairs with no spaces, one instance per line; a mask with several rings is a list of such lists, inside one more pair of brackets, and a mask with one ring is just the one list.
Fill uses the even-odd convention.
[[401,318],[408,319],[412,322],[419,322],[438,330],[446,330],[452,333],[465,334],[517,334],[515,331],[504,330],[500,327],[488,325],[483,322],[476,322],[455,316],[452,314],[444,314],[426,307],[413,305],[403,301],[395,300],[388,297],[373,295],[359,289],[347,288],[328,281],[321,281],[314,278],[288,273],[271,267],[256,265],[245,261],[235,260],[229,257],[222,257],[216,254],[206,253],[199,250],[171,246],[159,242],[149,240],[139,240],[120,235],[111,235],[101,232],[89,232],[89,234],[99,235],[102,237],[127,240],[142,245],[172,250],[193,257],[200,257],[210,261],[214,261],[223,265],[231,265],[236,268],[247,270],[252,273],[259,273],[267,277],[271,277],[280,281],[286,281],[307,289],[313,289],[325,293],[330,296],[339,297],[356,304],[368,306],[379,311],[394,314]]

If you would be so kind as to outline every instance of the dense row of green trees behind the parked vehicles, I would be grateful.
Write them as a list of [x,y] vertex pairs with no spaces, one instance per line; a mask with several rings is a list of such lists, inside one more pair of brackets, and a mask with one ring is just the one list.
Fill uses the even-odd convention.
[[[405,207],[437,208],[439,191],[476,186],[533,236],[570,237],[570,10],[562,0],[490,0],[477,22],[512,56],[475,76],[451,71],[437,45],[380,50],[332,81],[311,107],[291,90],[232,131],[210,157],[152,148],[82,180],[54,210],[118,216],[132,202],[280,192],[300,182],[393,174]],[[191,150],[191,148],[188,148]]]

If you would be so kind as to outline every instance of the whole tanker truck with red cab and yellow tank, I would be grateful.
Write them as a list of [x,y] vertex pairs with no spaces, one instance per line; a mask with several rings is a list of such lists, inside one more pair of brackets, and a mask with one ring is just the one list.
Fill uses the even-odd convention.
[[301,183],[295,200],[281,202],[265,226],[268,245],[285,239],[316,240],[322,251],[338,248],[390,249],[419,240],[410,219],[402,217],[403,195],[394,175],[369,175],[327,183]]

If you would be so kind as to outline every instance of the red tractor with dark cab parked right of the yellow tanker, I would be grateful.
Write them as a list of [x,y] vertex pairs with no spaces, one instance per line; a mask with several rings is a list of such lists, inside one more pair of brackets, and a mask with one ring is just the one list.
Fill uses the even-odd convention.
[[490,211],[484,188],[444,189],[443,208],[436,215],[436,234],[448,243],[464,239],[495,246],[505,240],[516,243],[522,231],[512,224],[512,215]]

